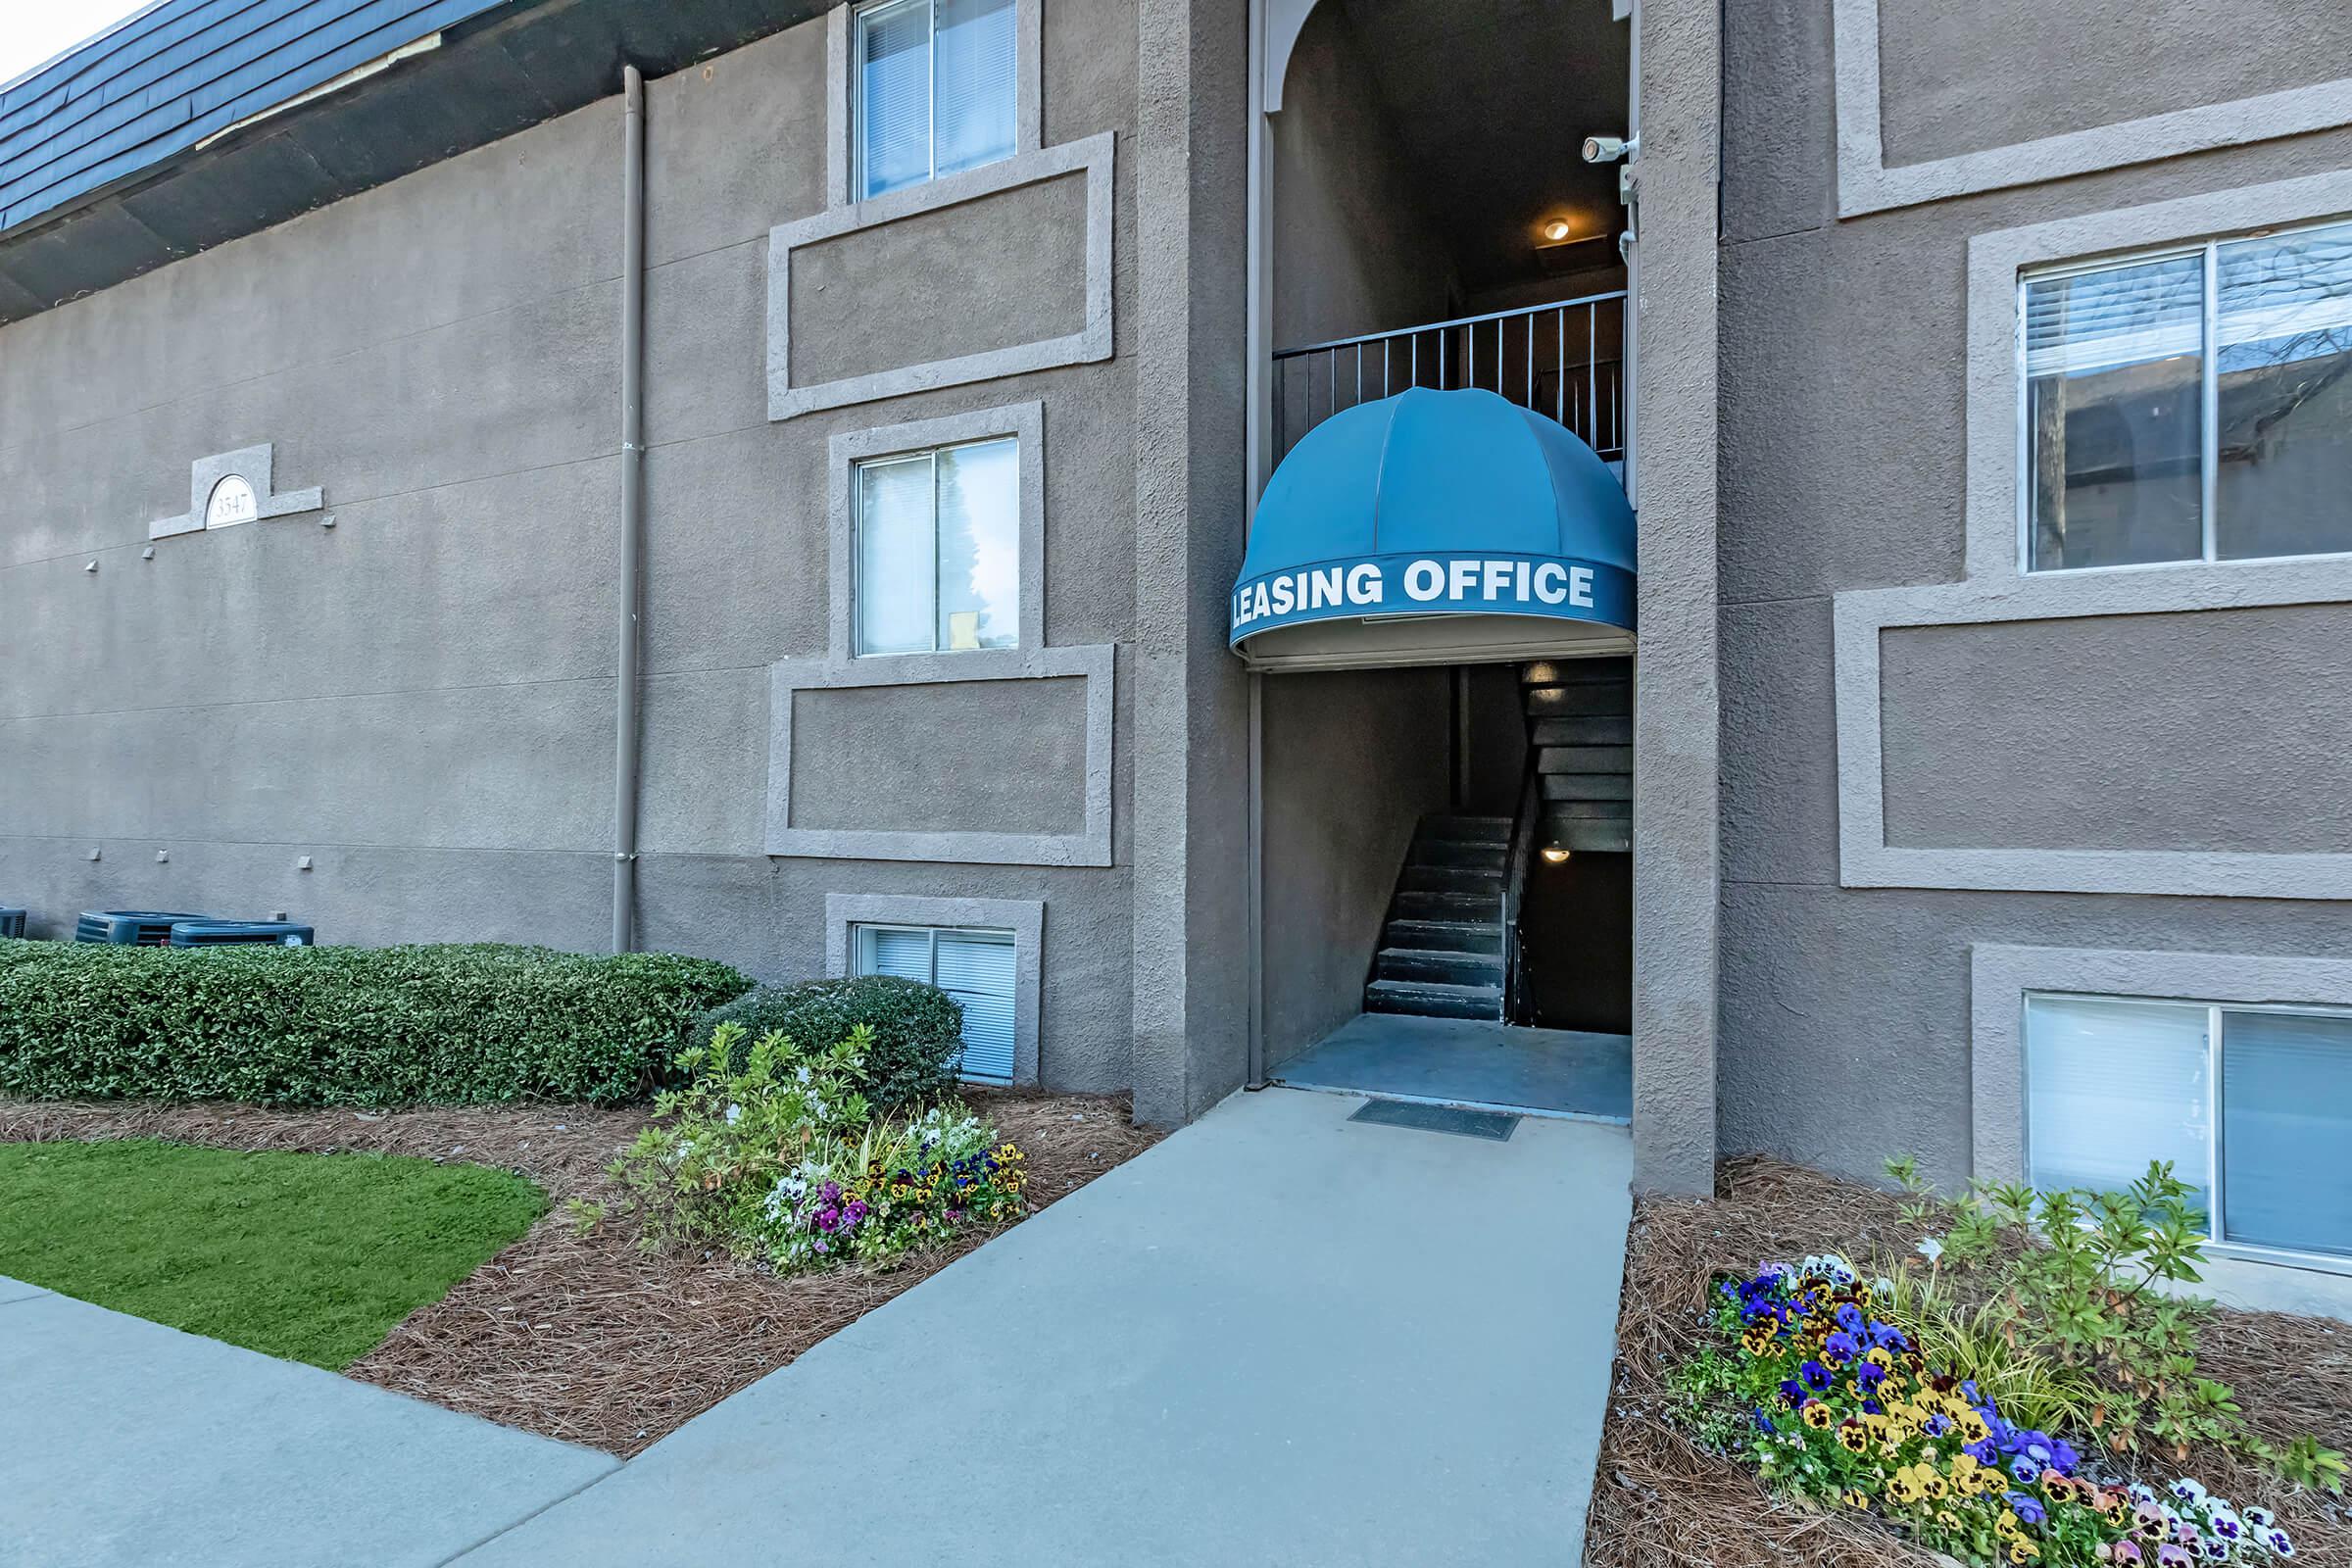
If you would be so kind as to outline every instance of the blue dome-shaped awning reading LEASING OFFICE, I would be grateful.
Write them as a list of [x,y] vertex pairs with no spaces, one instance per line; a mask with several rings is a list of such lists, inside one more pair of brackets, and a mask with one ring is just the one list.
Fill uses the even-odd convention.
[[1616,654],[1632,646],[1632,545],[1625,489],[1559,423],[1411,388],[1282,458],[1230,644],[1261,668]]

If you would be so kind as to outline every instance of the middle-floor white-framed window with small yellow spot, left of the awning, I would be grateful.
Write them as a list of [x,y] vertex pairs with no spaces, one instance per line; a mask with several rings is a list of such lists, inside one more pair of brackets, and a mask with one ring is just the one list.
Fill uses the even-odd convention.
[[938,447],[856,465],[856,654],[1021,642],[1021,444]]

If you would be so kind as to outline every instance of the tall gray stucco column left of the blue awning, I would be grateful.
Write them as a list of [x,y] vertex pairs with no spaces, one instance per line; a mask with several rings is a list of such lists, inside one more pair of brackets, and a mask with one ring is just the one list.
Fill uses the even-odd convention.
[[1136,1114],[1183,1121],[1249,1060],[1249,684],[1225,651],[1242,562],[1247,0],[1138,0]]

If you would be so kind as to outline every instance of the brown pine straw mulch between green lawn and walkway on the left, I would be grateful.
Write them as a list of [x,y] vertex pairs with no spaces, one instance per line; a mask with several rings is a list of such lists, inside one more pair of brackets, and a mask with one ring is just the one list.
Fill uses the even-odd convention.
[[[1160,1131],[1124,1098],[967,1091],[1028,1154],[1033,1208],[1134,1159]],[[948,1267],[990,1232],[889,1272],[776,1279],[720,1255],[647,1255],[626,1222],[576,1234],[572,1197],[614,1197],[604,1166],[644,1110],[259,1110],[0,1100],[0,1143],[167,1138],[223,1150],[421,1154],[506,1166],[553,1201],[532,1232],[412,1312],[346,1375],[508,1427],[628,1458],[727,1394]]]

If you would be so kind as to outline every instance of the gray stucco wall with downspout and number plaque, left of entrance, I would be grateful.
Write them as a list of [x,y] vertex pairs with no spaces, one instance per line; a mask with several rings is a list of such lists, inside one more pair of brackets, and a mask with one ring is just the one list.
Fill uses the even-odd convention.
[[[1155,425],[1167,404],[1141,407],[1150,355],[1136,322],[1150,317],[1155,266],[1138,261],[1150,252],[1141,223],[1150,200],[1160,212],[1174,200],[1148,195],[1134,162],[1138,26],[1136,0],[1054,0],[1042,31],[1044,146],[1101,134],[1117,146],[1105,235],[1117,355],[781,423],[762,350],[769,228],[826,212],[828,21],[654,80],[647,110],[640,945],[802,978],[826,969],[828,896],[1040,900],[1040,1077],[1070,1088],[1143,1077],[1131,1060],[1138,954],[1183,940],[1138,929],[1131,900],[1136,757],[1152,755],[1152,724],[1181,733],[1192,722],[1181,686],[1155,693],[1160,719],[1138,719],[1138,656],[1174,646],[1178,672],[1228,675],[1209,661],[1223,658],[1216,571],[1138,625],[1138,581],[1157,583],[1162,564],[1138,548],[1155,503],[1169,529],[1138,465],[1167,442]],[[1207,63],[1237,47],[1240,24],[1152,71],[1228,113]],[[1230,122],[1240,134],[1237,110]],[[12,496],[0,512],[0,900],[33,907],[38,933],[61,933],[85,907],[193,907],[289,910],[339,943],[604,945],[619,158],[614,96],[0,329],[0,491]],[[818,355],[920,357],[920,346],[844,346],[821,329],[856,310],[882,310],[884,327],[936,315],[943,259],[964,268],[948,294],[981,348],[1068,331],[1084,313],[1075,289],[1089,252],[1077,188],[1023,186],[854,230],[830,242],[837,254],[800,252],[811,273],[795,306],[811,317],[795,341]],[[1176,200],[1178,223],[1204,221],[1197,207]],[[1237,266],[1240,242],[1230,249]],[[828,266],[840,270],[816,292]],[[1178,299],[1228,282],[1200,277]],[[1237,348],[1211,343],[1223,339],[1202,327],[1171,357],[1237,381]],[[1025,402],[1044,421],[1044,644],[1117,651],[1110,863],[762,853],[771,665],[821,663],[830,646],[830,440]],[[165,538],[141,555],[148,524],[188,505],[191,461],[261,442],[275,447],[280,489],[325,489],[320,515]],[[1204,430],[1190,442],[1240,451],[1237,428],[1230,442]],[[1237,456],[1230,470],[1237,512]],[[1176,501],[1178,524],[1188,510]],[[1200,548],[1230,581],[1232,541],[1209,529]],[[1207,649],[1190,623],[1202,609]],[[1242,691],[1237,670],[1228,684]],[[1089,766],[1084,682],[1002,682],[988,696],[800,693],[823,710],[795,724],[823,745],[795,778],[793,811],[840,823],[868,795],[891,825],[1073,830]],[[1240,719],[1228,733],[1237,748]],[[1200,797],[1230,809],[1235,842],[1240,799]],[[1152,832],[1155,853],[1169,853],[1169,827]],[[301,856],[310,870],[296,870]],[[1235,1006],[1244,990],[1230,983]],[[1190,1048],[1207,1065],[1174,1072],[1178,1091],[1148,1114],[1188,1114],[1237,1081],[1240,1039],[1237,1027],[1197,1030]]]

